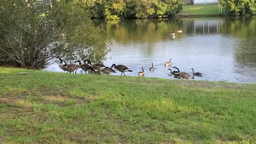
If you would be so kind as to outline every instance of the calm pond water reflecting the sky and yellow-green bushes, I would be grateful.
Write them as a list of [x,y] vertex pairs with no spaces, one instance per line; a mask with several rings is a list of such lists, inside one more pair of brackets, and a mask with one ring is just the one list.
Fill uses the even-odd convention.
[[[119,23],[96,21],[107,31],[111,51],[103,63],[122,64],[138,76],[174,79],[171,67],[203,74],[195,80],[256,83],[256,18],[172,18],[125,20]],[[176,33],[176,30],[182,33]],[[169,33],[175,33],[172,38]],[[149,71],[153,62],[155,70]],[[48,70],[61,71],[58,64]],[[82,73],[82,70],[79,70]],[[121,75],[119,71],[117,74]]]

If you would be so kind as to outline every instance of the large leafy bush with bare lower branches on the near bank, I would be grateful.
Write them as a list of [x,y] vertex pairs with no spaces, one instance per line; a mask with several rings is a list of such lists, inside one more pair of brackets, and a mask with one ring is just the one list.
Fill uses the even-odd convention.
[[55,57],[102,60],[105,34],[75,1],[0,1],[0,65],[42,69]]

